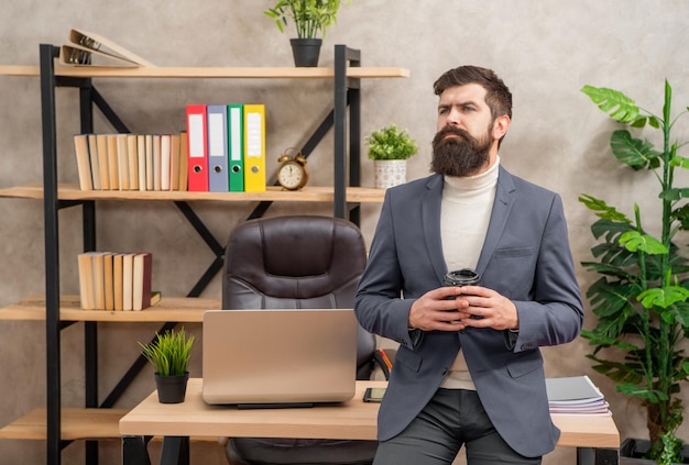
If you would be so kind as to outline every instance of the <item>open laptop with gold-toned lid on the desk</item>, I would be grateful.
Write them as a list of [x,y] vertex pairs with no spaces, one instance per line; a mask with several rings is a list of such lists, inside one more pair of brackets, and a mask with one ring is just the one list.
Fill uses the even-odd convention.
[[354,396],[352,309],[207,310],[203,336],[206,403],[307,407]]

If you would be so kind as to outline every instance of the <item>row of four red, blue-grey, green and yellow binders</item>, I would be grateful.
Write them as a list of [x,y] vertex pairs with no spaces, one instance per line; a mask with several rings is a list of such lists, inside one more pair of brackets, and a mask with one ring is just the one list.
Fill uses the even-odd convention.
[[188,190],[265,191],[265,106],[189,104]]

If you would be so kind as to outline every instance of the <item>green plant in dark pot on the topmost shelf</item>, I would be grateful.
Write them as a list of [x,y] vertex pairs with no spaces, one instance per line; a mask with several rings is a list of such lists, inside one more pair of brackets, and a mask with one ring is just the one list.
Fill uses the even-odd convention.
[[[296,66],[318,66],[318,56],[326,30],[337,23],[337,12],[343,0],[277,0],[264,13],[275,20],[284,32],[287,19],[294,21],[297,36],[291,38]],[[349,0],[348,0],[349,2]]]

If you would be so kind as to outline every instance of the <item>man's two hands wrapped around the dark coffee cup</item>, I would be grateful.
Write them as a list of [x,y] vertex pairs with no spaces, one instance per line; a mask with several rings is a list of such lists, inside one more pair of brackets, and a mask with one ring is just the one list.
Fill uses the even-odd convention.
[[409,310],[409,328],[423,331],[460,331],[468,326],[516,330],[518,325],[512,300],[481,286],[429,290]]

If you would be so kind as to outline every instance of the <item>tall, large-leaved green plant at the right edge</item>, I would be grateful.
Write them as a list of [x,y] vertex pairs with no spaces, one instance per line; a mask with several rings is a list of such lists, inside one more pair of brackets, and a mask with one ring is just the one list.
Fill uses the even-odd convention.
[[[630,218],[593,196],[579,198],[599,217],[591,226],[598,240],[591,248],[595,261],[582,263],[601,275],[587,291],[598,315],[595,326],[582,331],[594,347],[588,357],[595,362],[597,372],[617,384],[617,391],[641,399],[650,439],[647,458],[683,463],[683,441],[676,432],[683,414],[679,394],[689,376],[682,351],[689,336],[689,264],[686,247],[677,242],[678,233],[689,229],[689,188],[675,185],[675,170],[689,168],[689,158],[679,155],[685,143],[674,141],[671,130],[687,111],[672,115],[672,89],[667,81],[659,115],[616,90],[584,86],[582,91],[615,121],[632,129],[648,125],[663,143],[656,150],[626,129],[614,131],[610,141],[620,163],[637,171],[650,170],[658,180],[658,217],[642,221],[637,204]],[[680,243],[683,246],[687,237]]]

